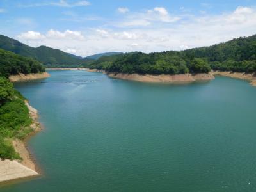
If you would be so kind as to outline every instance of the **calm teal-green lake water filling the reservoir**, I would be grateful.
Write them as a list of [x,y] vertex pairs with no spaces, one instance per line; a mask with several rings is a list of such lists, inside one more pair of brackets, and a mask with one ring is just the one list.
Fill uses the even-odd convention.
[[44,131],[28,145],[43,174],[0,191],[256,191],[256,88],[52,71],[17,83]]

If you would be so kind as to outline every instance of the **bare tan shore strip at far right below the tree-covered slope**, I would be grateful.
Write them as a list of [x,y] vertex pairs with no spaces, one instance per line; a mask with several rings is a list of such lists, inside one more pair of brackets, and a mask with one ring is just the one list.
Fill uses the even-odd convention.
[[240,72],[222,72],[222,71],[213,71],[211,72],[213,76],[225,76],[225,77],[232,77],[235,79],[242,79],[246,81],[250,81],[252,86],[256,86],[256,75],[255,74],[246,74]]

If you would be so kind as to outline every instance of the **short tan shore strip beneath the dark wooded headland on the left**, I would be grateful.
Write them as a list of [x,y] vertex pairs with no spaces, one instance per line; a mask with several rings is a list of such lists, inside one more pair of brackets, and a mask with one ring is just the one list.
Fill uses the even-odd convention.
[[9,77],[9,79],[12,82],[17,82],[17,81],[29,81],[29,80],[35,80],[35,79],[45,79],[47,77],[50,77],[50,74],[47,72],[43,72],[43,73],[38,73],[38,74],[12,75]]

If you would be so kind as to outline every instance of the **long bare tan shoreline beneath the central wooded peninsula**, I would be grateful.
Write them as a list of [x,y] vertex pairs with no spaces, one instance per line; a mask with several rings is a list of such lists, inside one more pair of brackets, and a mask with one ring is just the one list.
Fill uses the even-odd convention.
[[195,81],[209,81],[214,79],[212,74],[177,74],[177,75],[140,75],[108,73],[109,77],[126,79],[140,82],[163,82],[163,83],[190,83]]

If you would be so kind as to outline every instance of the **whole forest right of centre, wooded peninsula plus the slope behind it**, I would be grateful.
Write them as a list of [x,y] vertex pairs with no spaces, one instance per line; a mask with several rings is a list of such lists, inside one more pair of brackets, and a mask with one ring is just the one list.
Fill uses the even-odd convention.
[[186,51],[103,56],[87,67],[130,74],[184,74],[211,69],[252,73],[256,72],[256,35]]

